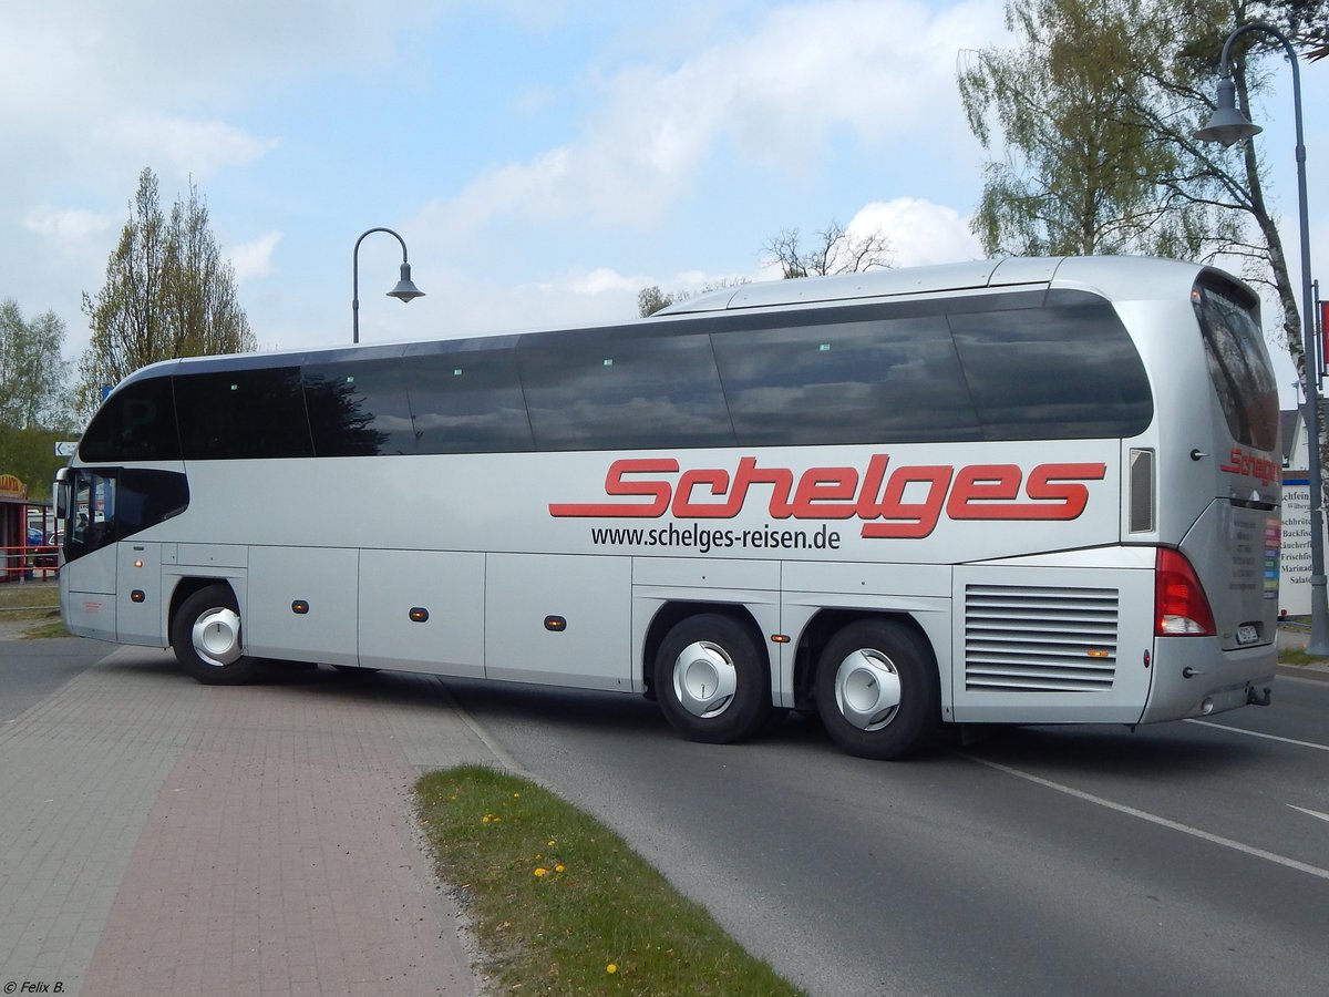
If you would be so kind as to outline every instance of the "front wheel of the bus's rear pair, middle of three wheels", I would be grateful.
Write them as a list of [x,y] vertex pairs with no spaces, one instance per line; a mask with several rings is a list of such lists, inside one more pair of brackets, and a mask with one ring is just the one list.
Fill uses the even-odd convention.
[[688,740],[727,744],[766,727],[771,678],[762,645],[734,617],[700,613],[679,621],[655,655],[655,697]]

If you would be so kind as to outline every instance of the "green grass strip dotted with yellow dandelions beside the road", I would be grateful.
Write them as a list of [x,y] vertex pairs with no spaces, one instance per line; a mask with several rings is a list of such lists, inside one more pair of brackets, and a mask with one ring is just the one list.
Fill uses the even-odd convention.
[[526,779],[448,768],[416,783],[416,803],[484,970],[505,992],[801,993],[623,839]]

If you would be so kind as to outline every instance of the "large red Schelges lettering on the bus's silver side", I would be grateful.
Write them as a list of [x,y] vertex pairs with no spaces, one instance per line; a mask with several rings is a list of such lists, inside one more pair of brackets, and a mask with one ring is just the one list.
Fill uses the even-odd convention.
[[795,477],[788,468],[758,467],[740,457],[738,468],[679,472],[676,460],[615,460],[605,475],[605,495],[629,501],[552,502],[557,517],[728,520],[762,489],[773,520],[864,521],[864,537],[920,538],[950,520],[1074,520],[1088,505],[1087,481],[1102,481],[1106,464],[1039,464],[1029,476],[1017,464],[948,464],[898,467],[876,453],[857,468],[808,468]]

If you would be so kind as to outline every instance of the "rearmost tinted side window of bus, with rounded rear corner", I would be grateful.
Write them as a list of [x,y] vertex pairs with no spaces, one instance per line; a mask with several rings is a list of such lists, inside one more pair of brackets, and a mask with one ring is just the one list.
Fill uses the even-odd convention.
[[950,316],[987,440],[1135,436],[1154,417],[1135,344],[1107,302]]

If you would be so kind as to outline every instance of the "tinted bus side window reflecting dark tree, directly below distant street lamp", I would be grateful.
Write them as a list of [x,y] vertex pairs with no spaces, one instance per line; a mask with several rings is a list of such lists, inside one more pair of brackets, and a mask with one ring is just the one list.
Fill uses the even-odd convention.
[[400,360],[306,364],[304,404],[320,457],[413,453],[415,433]]

